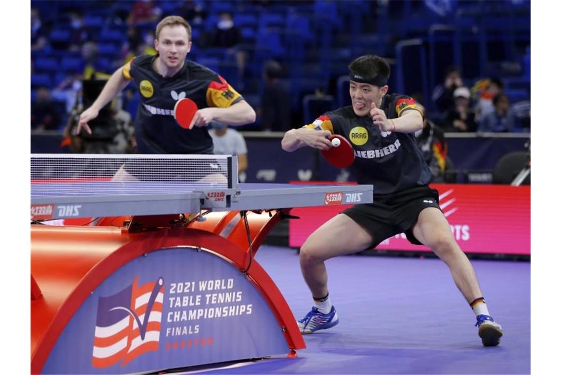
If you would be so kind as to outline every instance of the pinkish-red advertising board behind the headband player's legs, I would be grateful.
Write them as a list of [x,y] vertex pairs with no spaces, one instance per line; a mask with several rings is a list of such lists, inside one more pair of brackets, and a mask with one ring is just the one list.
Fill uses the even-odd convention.
[[[531,187],[432,184],[439,205],[461,249],[470,253],[531,254]],[[347,205],[295,208],[289,220],[289,246],[300,247],[306,238]],[[380,250],[430,251],[412,245],[404,233],[377,246]]]

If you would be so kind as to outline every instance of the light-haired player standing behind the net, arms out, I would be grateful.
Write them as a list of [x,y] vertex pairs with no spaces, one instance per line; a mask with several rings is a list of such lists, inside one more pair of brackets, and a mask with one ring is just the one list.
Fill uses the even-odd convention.
[[[182,17],[165,17],[156,26],[156,56],[138,56],[111,75],[93,105],[81,115],[76,134],[88,121],[134,80],[141,102],[135,119],[139,153],[212,154],[207,125],[212,120],[244,125],[256,120],[256,113],[224,78],[205,66],[186,60],[191,50],[191,26]],[[191,130],[174,119],[174,105],[182,98],[197,104]]]

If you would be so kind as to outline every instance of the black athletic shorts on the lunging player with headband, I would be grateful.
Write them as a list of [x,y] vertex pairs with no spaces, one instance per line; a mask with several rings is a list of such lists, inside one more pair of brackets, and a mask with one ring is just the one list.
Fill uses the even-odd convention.
[[422,245],[412,232],[418,216],[427,207],[439,207],[439,192],[428,186],[420,186],[401,192],[374,195],[373,203],[355,205],[342,211],[354,222],[373,235],[372,249],[395,234],[404,232],[408,241]]

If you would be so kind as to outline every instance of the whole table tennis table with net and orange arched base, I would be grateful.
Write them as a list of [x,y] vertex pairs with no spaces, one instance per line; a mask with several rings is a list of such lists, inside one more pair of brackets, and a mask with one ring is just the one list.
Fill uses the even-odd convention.
[[[303,349],[252,257],[291,208],[370,203],[373,187],[239,183],[237,170],[228,155],[31,155],[32,373]],[[40,225],[76,218],[97,221]]]

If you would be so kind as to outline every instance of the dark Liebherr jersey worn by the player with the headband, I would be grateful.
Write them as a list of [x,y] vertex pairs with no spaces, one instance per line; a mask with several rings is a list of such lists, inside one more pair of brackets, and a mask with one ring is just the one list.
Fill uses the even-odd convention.
[[[415,101],[402,94],[383,96],[380,109],[388,119],[407,110],[419,111]],[[329,111],[305,127],[346,137],[355,152],[351,174],[357,183],[372,184],[375,195],[425,186],[433,179],[414,134],[380,132],[369,116],[357,116],[352,106]]]

